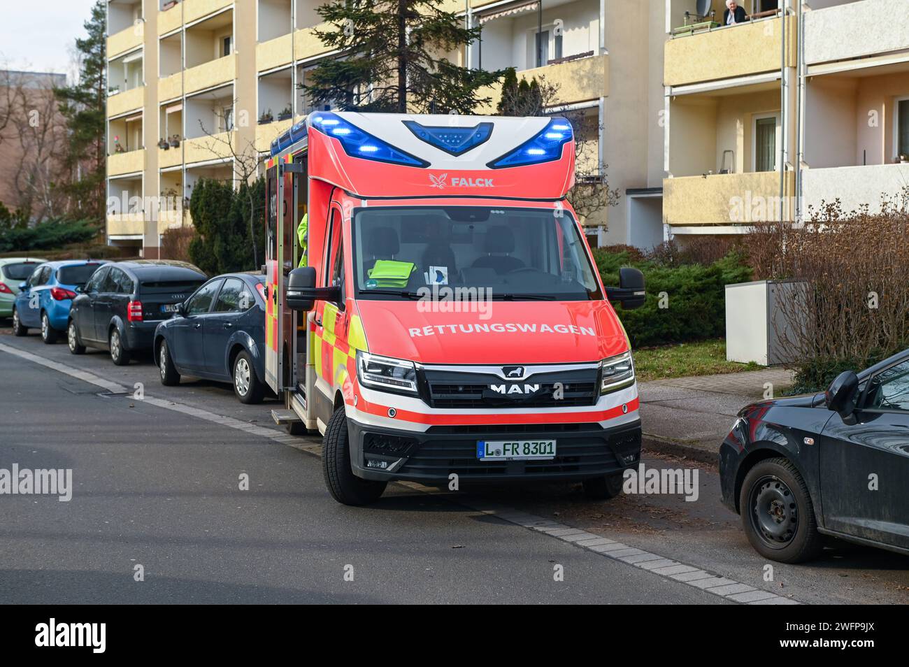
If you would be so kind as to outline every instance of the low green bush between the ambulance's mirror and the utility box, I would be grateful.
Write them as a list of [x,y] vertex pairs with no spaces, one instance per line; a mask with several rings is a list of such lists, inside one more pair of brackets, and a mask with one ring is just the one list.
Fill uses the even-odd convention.
[[[725,285],[751,280],[751,269],[735,253],[706,266],[661,266],[652,260],[635,261],[627,251],[604,248],[594,250],[594,259],[606,285],[618,285],[623,266],[634,266],[644,274],[644,305],[633,311],[616,309],[634,347],[724,336]],[[661,293],[665,293],[664,308]]]

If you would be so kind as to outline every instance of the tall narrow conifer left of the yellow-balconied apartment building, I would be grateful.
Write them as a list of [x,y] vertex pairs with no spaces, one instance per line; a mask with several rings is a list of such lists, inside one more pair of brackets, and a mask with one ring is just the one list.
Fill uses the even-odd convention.
[[98,0],[85,22],[88,35],[76,39],[80,55],[79,80],[75,85],[56,88],[68,130],[69,145],[64,156],[70,182],[61,188],[73,202],[72,214],[93,221],[105,218],[105,7]]

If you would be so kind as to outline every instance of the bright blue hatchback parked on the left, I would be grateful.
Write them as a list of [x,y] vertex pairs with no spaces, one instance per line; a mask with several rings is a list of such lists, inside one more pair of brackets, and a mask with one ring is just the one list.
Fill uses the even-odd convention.
[[66,331],[69,309],[79,290],[104,260],[66,260],[40,264],[19,285],[13,304],[13,333],[24,336],[30,328],[41,328],[41,340],[57,342]]

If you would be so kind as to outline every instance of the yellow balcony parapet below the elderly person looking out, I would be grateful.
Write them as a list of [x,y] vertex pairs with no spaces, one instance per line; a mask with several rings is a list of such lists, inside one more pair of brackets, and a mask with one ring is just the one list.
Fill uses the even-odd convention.
[[[664,85],[699,84],[778,72],[782,66],[783,18],[764,18],[691,35],[664,46]],[[786,19],[786,66],[795,66],[795,18]]]

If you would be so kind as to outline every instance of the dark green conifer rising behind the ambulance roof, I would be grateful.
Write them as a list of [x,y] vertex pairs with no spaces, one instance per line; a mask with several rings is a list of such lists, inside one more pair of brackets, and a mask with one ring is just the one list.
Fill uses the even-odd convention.
[[440,0],[334,0],[316,11],[333,25],[315,30],[339,55],[303,85],[316,106],[388,113],[474,113],[480,89],[504,72],[455,65],[449,55],[479,39],[479,28]]

